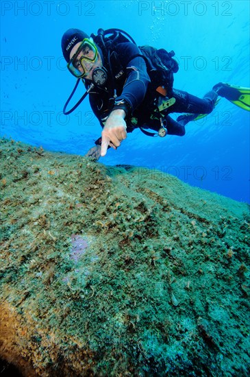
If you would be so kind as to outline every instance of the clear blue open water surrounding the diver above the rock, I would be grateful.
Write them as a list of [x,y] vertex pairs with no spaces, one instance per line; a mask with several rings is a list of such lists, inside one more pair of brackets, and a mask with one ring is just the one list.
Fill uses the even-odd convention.
[[[68,117],[75,84],[60,41],[70,27],[118,27],[138,45],[173,49],[175,88],[203,96],[217,82],[249,85],[249,1],[1,1],[1,136],[82,154],[101,135],[88,99]],[[83,93],[83,86],[77,92]],[[249,199],[249,112],[221,99],[184,137],[136,130],[99,160],[171,173],[238,201]]]

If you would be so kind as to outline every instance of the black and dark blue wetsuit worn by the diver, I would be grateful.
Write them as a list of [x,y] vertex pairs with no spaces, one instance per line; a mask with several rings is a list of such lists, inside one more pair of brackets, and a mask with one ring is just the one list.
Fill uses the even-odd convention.
[[[136,56],[141,54],[140,49],[130,42],[123,42],[116,45],[110,53],[109,62],[105,61],[103,53],[101,58],[103,66],[108,70],[108,81],[102,88],[95,87],[90,91],[90,106],[104,127],[105,119],[119,103],[125,101],[128,104],[125,109],[127,132],[132,132],[136,127],[148,127],[152,130],[159,130],[160,119],[151,119],[151,114],[157,106],[160,94],[153,88],[145,60]],[[136,56],[135,58],[133,58]],[[86,88],[90,82],[86,81]],[[168,116],[171,112],[189,112],[194,114],[209,114],[214,109],[217,93],[210,91],[203,97],[195,97],[183,90],[168,88],[168,98],[174,97],[175,104],[170,106],[165,115],[165,126],[167,134],[183,136],[185,127]],[[136,123],[133,122],[136,119]],[[96,144],[101,143],[101,138]]]

